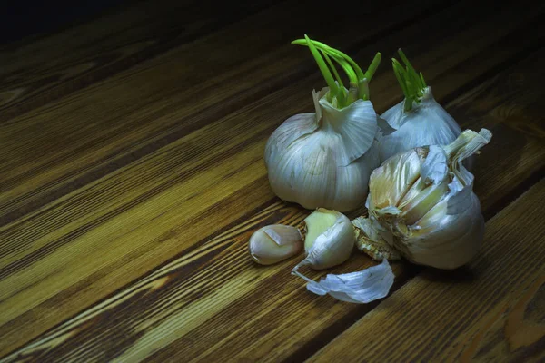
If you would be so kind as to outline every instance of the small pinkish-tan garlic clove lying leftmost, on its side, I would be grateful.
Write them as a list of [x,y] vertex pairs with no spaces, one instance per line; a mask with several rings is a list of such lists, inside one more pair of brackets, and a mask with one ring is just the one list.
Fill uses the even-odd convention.
[[255,231],[248,245],[254,261],[272,265],[300,253],[302,236],[295,227],[273,224]]

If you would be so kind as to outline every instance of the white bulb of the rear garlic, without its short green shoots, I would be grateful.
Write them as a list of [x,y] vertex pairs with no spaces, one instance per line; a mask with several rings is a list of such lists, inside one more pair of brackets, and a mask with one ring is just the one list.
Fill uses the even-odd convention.
[[381,114],[394,130],[380,137],[381,162],[415,147],[446,145],[460,135],[460,126],[435,101],[431,87],[423,90],[421,103],[414,104],[410,111],[405,112],[403,104],[404,101]]

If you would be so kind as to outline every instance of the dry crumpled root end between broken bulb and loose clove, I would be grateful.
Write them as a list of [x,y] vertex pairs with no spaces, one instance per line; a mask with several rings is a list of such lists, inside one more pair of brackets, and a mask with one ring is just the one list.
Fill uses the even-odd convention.
[[[372,260],[401,260],[401,254],[393,249],[381,236],[381,226],[378,222],[358,217],[352,221],[356,231],[356,247]],[[383,231],[387,232],[387,231]]]

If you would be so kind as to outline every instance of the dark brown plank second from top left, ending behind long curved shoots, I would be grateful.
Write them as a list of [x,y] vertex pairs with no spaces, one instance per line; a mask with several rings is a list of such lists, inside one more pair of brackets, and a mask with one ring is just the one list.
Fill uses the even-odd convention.
[[[308,5],[299,4],[302,8]],[[357,44],[357,40],[421,15],[414,6],[402,6],[406,9],[400,8],[399,17],[387,21],[381,16],[372,18],[368,33],[345,44]],[[282,3],[221,34],[178,47],[104,83],[1,124],[0,224],[217,122],[298,77],[316,74],[309,55],[290,44],[292,34],[316,27],[313,12],[319,11],[312,9],[299,20],[301,14]],[[390,10],[377,15],[387,12]],[[355,17],[346,20],[350,23]],[[292,33],[278,34],[277,24],[292,23]],[[329,32],[325,40],[342,34],[343,29]],[[236,52],[231,49],[233,44]],[[224,56],[227,53],[229,57]],[[365,62],[372,54],[367,53]],[[188,92],[198,96],[188,102]],[[47,152],[43,152],[45,148]]]

